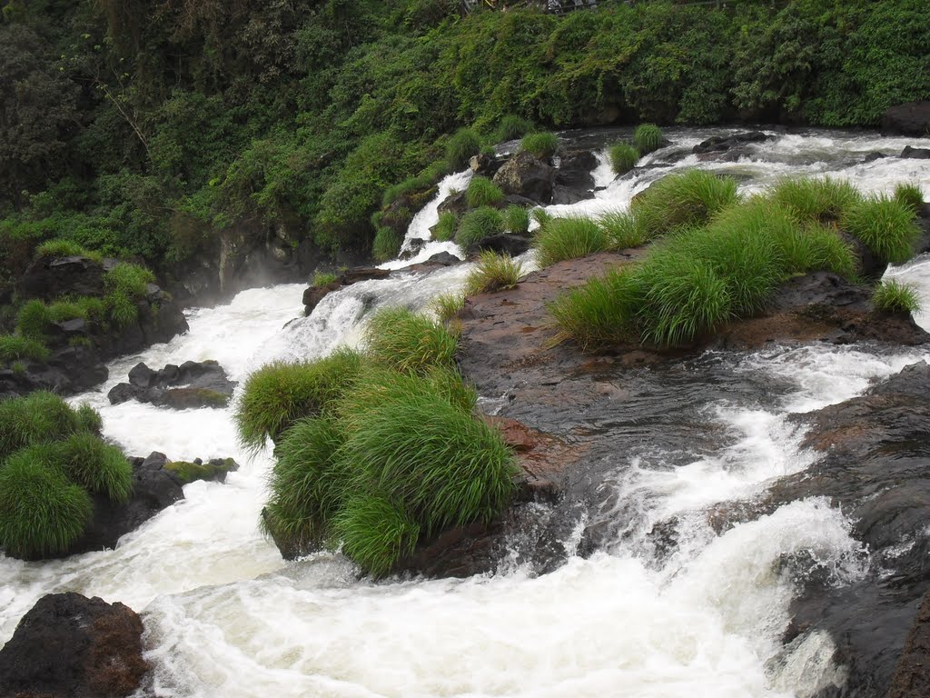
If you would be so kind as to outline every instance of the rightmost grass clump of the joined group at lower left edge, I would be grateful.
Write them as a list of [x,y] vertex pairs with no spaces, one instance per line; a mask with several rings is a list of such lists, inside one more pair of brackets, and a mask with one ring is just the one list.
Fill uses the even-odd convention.
[[68,436],[53,446],[56,463],[73,482],[113,502],[129,501],[132,466],[121,449],[86,431]]

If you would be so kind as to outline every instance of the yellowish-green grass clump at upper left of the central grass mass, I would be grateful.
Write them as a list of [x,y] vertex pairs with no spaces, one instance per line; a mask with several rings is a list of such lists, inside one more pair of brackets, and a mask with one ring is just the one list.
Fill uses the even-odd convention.
[[339,350],[316,361],[261,367],[246,379],[233,415],[239,439],[260,449],[299,419],[327,409],[355,380],[361,360],[355,352]]

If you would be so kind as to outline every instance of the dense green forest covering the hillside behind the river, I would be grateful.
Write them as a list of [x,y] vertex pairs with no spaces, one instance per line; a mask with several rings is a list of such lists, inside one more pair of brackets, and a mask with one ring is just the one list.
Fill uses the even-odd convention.
[[0,256],[18,265],[61,239],[162,271],[272,223],[367,250],[377,208],[534,122],[873,126],[930,98],[925,10],[7,3]]

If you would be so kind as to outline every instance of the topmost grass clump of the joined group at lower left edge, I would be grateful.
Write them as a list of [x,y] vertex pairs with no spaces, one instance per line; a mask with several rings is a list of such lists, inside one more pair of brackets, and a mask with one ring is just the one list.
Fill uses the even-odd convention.
[[80,426],[74,410],[46,391],[0,400],[0,461],[14,450],[70,436]]

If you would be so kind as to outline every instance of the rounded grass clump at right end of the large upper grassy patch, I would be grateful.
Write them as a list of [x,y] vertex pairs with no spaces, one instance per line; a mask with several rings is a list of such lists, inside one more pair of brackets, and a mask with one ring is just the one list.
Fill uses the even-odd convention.
[[914,212],[885,195],[873,195],[844,210],[841,225],[882,262],[901,264],[914,256],[920,228]]

